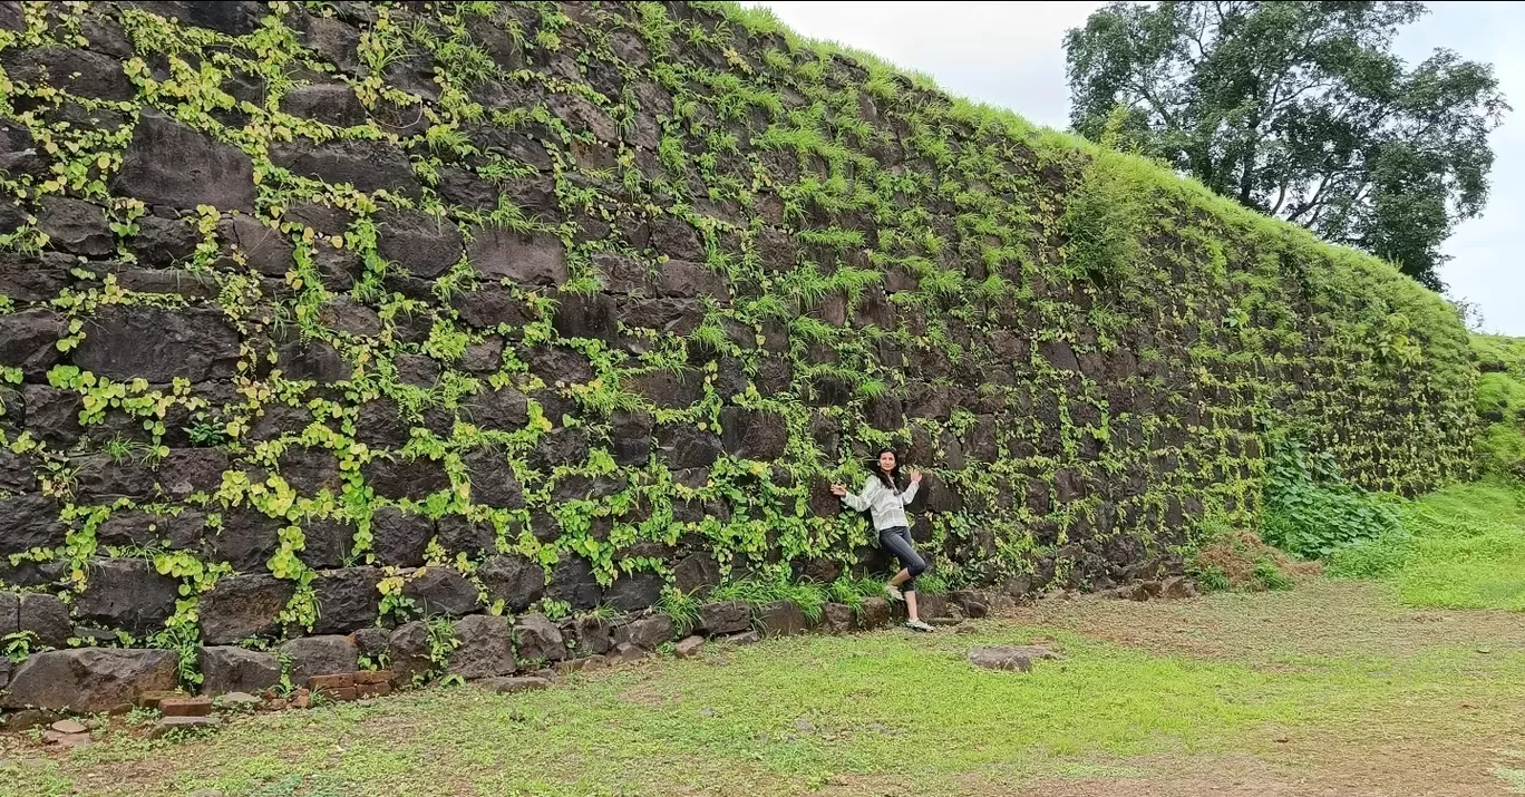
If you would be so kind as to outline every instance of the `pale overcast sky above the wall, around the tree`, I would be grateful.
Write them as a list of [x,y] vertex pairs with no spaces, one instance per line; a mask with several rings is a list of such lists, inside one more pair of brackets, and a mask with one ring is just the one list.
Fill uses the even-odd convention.
[[[1084,24],[1103,3],[833,3],[752,2],[772,8],[796,32],[834,40],[917,72],[942,88],[1011,108],[1031,122],[1064,128],[1064,30]],[[1411,64],[1435,47],[1491,62],[1501,90],[1519,111],[1493,133],[1493,192],[1482,218],[1461,224],[1441,270],[1452,296],[1475,302],[1484,329],[1525,335],[1525,270],[1517,245],[1525,224],[1525,3],[1430,3],[1403,29],[1398,52]]]

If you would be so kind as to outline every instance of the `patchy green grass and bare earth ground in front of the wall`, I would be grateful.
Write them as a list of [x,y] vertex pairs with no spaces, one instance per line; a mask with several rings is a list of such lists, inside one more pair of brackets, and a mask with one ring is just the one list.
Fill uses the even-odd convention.
[[[1525,492],[1459,485],[1406,535],[1273,593],[1040,600],[913,635],[796,637],[438,687],[52,751],[0,741],[0,795],[1525,792]],[[1366,578],[1354,578],[1366,576]],[[974,645],[1068,660],[978,671]],[[214,794],[214,792],[206,792]]]

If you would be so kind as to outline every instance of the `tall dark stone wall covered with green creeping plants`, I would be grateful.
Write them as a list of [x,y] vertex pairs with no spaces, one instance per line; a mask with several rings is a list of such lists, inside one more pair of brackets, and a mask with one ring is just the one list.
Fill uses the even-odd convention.
[[1270,428],[1467,460],[1452,308],[1153,166],[730,6],[303,8],[0,2],[34,651],[833,582],[881,445],[936,578],[1014,591],[1254,523]]

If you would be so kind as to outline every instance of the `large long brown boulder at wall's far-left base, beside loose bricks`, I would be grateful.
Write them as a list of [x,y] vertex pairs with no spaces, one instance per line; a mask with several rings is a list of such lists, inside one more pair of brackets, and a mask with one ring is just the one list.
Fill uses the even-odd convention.
[[75,648],[34,654],[11,675],[0,706],[108,712],[136,703],[143,692],[174,689],[178,663],[174,651]]

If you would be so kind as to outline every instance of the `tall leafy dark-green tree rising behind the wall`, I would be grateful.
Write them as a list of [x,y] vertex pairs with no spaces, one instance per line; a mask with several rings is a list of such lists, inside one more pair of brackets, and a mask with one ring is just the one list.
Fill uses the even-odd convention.
[[1435,50],[1408,69],[1392,53],[1397,29],[1426,12],[1112,3],[1064,35],[1071,123],[1441,290],[1440,245],[1482,212],[1488,133],[1510,107],[1488,64]]

